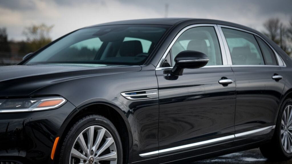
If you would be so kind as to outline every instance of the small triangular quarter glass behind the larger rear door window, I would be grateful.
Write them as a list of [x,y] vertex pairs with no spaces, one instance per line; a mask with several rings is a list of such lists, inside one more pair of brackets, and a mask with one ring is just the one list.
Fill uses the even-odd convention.
[[262,50],[262,53],[264,55],[266,65],[278,65],[273,50],[267,45],[267,43],[265,43],[265,41],[260,39],[258,36],[256,36],[256,39],[258,40],[260,49]]

